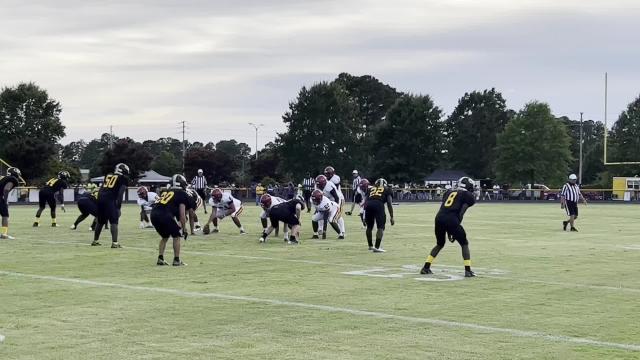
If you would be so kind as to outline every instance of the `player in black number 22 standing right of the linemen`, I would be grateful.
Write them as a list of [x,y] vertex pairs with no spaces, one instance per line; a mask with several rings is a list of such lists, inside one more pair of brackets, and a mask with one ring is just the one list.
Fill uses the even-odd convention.
[[[369,186],[369,181],[362,181],[361,186],[365,186],[367,190],[366,200],[364,208],[365,222],[367,223],[367,243],[369,244],[369,250],[374,253],[383,253],[384,249],[380,247],[382,244],[382,237],[384,236],[384,229],[387,223],[387,214],[384,210],[384,205],[387,204],[389,210],[389,222],[391,226],[395,225],[393,220],[393,205],[391,203],[391,189],[387,187],[387,180],[376,180],[375,186]],[[376,244],[373,246],[373,226],[376,225],[378,231],[376,232]]]

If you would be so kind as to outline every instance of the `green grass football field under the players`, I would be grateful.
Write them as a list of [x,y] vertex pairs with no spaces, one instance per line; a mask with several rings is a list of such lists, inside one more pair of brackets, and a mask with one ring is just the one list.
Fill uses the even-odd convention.
[[[479,276],[441,282],[403,269],[435,242],[434,204],[396,208],[385,254],[366,251],[357,217],[344,241],[307,240],[305,214],[300,246],[260,245],[249,206],[250,235],[225,220],[184,244],[184,268],[155,266],[158,237],[137,228],[136,207],[123,211],[123,249],[88,246],[89,220],[69,230],[72,206],[57,229],[47,212],[34,229],[35,208],[10,210],[18,239],[0,242],[0,359],[640,359],[615,347],[640,348],[635,206],[582,207],[580,232],[568,233],[555,203],[479,204],[465,219]],[[344,274],[373,268],[404,274]],[[459,246],[434,269],[459,276]]]

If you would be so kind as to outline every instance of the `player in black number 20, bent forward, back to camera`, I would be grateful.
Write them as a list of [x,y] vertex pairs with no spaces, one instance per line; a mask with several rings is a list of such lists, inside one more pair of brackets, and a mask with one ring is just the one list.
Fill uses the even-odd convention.
[[162,193],[151,210],[151,224],[160,235],[158,244],[157,265],[169,265],[164,261],[164,249],[167,246],[169,237],[173,238],[173,266],[184,266],[180,260],[180,241],[184,237],[187,239],[187,208],[189,207],[189,195],[187,179],[180,174],[175,174],[171,178],[171,188]]

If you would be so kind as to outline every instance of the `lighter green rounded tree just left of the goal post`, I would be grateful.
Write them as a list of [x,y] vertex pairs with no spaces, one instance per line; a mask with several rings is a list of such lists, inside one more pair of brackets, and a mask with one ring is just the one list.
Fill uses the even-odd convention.
[[526,104],[498,136],[498,178],[513,184],[561,184],[573,160],[569,142],[567,128],[549,105]]

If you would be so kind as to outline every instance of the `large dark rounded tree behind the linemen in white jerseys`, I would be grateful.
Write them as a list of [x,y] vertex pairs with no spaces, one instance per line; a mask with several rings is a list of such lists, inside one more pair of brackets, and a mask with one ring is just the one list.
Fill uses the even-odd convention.
[[296,178],[327,165],[339,174],[351,171],[357,152],[358,108],[338,83],[303,87],[283,116],[287,131],[280,134],[283,166]]

